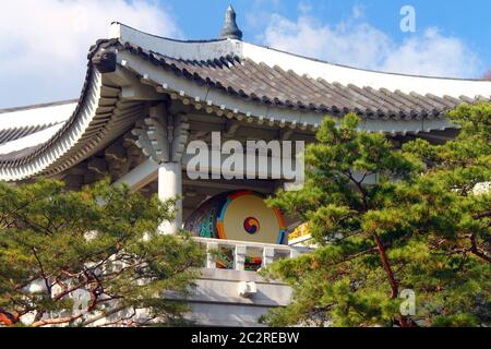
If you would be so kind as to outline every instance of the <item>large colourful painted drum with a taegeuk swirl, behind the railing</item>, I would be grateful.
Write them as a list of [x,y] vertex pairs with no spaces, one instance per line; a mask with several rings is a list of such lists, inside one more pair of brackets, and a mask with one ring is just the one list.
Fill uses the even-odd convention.
[[184,229],[203,238],[262,243],[284,243],[286,231],[282,213],[251,191],[212,197],[190,216]]

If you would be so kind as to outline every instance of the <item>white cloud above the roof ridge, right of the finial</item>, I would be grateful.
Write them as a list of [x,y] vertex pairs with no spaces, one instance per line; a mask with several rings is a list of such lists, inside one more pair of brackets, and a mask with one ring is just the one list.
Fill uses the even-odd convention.
[[362,17],[360,7],[351,19],[334,26],[306,12],[296,21],[273,14],[259,38],[280,50],[364,69],[448,77],[482,73],[478,56],[456,37],[427,28],[396,43]]

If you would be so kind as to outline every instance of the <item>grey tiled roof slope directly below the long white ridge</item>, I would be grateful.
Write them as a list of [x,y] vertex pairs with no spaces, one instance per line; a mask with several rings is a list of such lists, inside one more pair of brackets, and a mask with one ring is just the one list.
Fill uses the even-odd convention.
[[[279,108],[307,109],[334,116],[354,111],[363,117],[407,119],[436,117],[460,104],[476,101],[466,96],[439,97],[355,84],[345,86],[237,56],[206,61],[184,60],[145,50],[130,43],[124,44],[124,49],[199,85]],[[489,100],[489,97],[478,99]]]

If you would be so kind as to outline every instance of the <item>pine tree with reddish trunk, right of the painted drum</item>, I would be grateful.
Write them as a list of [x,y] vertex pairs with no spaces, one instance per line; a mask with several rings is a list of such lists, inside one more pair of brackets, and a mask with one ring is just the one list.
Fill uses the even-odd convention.
[[448,117],[456,140],[403,149],[360,131],[355,115],[322,123],[304,188],[270,198],[309,224],[318,248],[264,272],[294,288],[291,304],[264,323],[489,325],[491,105]]

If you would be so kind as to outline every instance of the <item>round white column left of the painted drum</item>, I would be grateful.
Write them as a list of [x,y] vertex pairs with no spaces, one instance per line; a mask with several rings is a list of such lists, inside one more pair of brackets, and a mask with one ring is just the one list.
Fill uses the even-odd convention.
[[[158,168],[158,198],[166,201],[182,196],[182,168],[180,163],[164,163]],[[177,233],[182,227],[182,200],[176,202],[176,219],[165,221],[159,230],[161,233]]]

